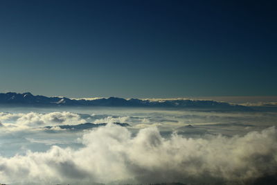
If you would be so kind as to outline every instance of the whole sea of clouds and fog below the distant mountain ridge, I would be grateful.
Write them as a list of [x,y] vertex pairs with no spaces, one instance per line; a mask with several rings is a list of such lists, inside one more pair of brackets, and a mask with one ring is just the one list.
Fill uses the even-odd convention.
[[[109,124],[58,127],[82,123]],[[265,111],[0,107],[0,183],[255,184],[275,178],[276,125]]]

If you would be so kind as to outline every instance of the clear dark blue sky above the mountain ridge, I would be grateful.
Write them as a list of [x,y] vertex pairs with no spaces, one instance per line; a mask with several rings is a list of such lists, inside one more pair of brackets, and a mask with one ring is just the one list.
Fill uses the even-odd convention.
[[0,1],[0,91],[276,96],[274,1]]

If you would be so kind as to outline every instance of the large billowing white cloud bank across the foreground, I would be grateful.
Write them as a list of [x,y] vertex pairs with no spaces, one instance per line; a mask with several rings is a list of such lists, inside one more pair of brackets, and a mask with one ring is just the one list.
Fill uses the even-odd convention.
[[16,184],[91,182],[184,182],[247,184],[277,172],[275,127],[244,136],[165,139],[157,127],[139,130],[108,124],[82,136],[78,150],[53,146],[47,152],[0,157],[0,179]]

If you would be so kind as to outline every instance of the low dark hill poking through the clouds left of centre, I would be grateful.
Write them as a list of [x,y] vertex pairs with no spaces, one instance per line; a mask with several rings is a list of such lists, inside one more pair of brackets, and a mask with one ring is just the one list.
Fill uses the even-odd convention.
[[[128,123],[113,123],[115,125],[120,125],[122,127],[128,127],[130,126]],[[107,125],[107,123],[98,123],[98,124],[94,124],[94,123],[82,123],[82,124],[78,124],[78,125],[57,125],[55,127],[60,127],[61,129],[69,129],[69,130],[86,130],[89,128],[93,128],[93,127],[102,127]],[[47,126],[45,127],[46,129],[51,129],[53,126]]]

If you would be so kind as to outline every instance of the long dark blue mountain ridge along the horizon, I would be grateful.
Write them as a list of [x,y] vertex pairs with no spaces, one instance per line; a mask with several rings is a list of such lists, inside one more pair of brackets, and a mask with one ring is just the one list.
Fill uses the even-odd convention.
[[30,92],[17,94],[15,92],[0,93],[0,104],[4,105],[51,105],[51,106],[102,106],[102,107],[181,107],[181,108],[215,108],[215,109],[249,109],[242,105],[214,100],[141,100],[136,98],[97,98],[93,100],[70,99],[66,97],[34,96]]

